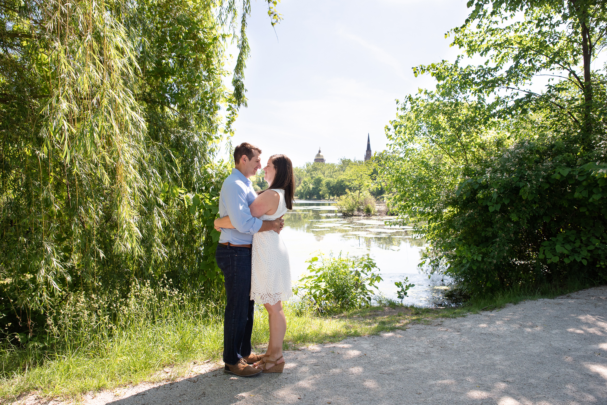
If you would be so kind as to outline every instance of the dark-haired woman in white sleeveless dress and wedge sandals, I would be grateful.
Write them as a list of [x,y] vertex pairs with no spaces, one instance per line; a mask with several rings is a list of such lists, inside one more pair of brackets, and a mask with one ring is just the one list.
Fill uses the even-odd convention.
[[[291,159],[285,155],[270,156],[263,171],[263,178],[270,187],[259,192],[249,209],[251,215],[266,221],[279,218],[287,209],[293,209],[295,176]],[[215,229],[219,228],[233,228],[228,216],[215,219]],[[270,230],[253,235],[251,255],[251,300],[263,304],[270,323],[268,350],[255,366],[264,373],[282,373],[285,367],[282,341],[287,332],[282,301],[293,295],[289,253],[280,235]]]

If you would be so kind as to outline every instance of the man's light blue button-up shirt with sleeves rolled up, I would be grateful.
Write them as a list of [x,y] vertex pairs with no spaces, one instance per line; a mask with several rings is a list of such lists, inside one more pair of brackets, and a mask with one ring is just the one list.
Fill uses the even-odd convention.
[[220,243],[229,242],[235,245],[253,243],[253,234],[262,227],[263,221],[251,216],[249,204],[257,197],[251,180],[240,170],[232,169],[232,174],[223,181],[219,195],[219,217],[229,215],[236,229],[222,228]]

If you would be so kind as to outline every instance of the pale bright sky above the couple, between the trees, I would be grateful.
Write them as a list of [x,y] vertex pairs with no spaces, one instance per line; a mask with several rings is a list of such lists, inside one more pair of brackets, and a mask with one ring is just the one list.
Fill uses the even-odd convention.
[[232,144],[251,142],[266,158],[285,153],[296,166],[318,149],[327,162],[362,159],[367,133],[384,150],[395,99],[433,88],[412,67],[455,60],[444,35],[469,14],[465,0],[282,0],[272,28],[266,2],[253,2],[251,57]]

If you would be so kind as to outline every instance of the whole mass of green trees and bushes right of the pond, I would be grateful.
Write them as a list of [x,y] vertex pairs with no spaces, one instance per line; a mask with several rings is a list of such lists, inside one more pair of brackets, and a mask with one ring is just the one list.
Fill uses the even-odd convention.
[[413,68],[437,84],[399,102],[387,127],[395,210],[430,244],[424,264],[469,295],[604,282],[607,78],[591,61],[607,40],[607,8],[468,5],[446,36],[486,62]]

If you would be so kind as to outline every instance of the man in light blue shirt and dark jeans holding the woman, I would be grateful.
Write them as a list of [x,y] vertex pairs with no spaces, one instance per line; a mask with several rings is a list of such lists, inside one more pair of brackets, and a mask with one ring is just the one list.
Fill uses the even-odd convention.
[[254,301],[251,291],[251,243],[253,234],[274,230],[280,233],[283,219],[262,221],[251,216],[249,204],[257,197],[249,177],[261,169],[262,151],[243,142],[234,149],[235,169],[225,179],[219,196],[219,216],[228,215],[236,229],[222,228],[215,260],[225,278],[226,310],[223,320],[223,362],[225,372],[253,377],[262,372],[249,366],[261,360],[251,353]]

